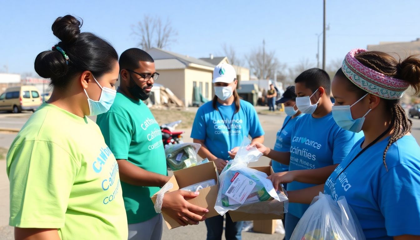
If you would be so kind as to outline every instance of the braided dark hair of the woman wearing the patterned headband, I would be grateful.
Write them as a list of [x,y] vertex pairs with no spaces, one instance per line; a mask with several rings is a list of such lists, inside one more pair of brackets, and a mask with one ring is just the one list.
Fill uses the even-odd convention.
[[[379,51],[367,51],[363,53],[358,53],[354,56],[360,63],[367,66],[370,69],[373,69],[381,74],[391,76],[397,79],[402,79],[408,82],[415,94],[417,95],[420,92],[420,59],[412,55],[406,58],[403,61],[397,61],[394,57],[387,53]],[[347,79],[343,71],[339,69],[336,76],[340,76],[343,79]],[[362,90],[360,87],[357,87],[349,79],[347,79],[349,84],[348,88],[351,91],[356,92],[357,96],[361,98],[366,95],[367,92]],[[399,99],[384,99],[381,100],[385,103],[386,111],[391,113],[391,126],[394,128],[394,132],[388,140],[388,145],[386,145],[385,150],[383,151],[383,165],[388,171],[386,166],[386,152],[389,147],[404,137],[407,133],[411,132],[412,121],[407,117],[407,114],[404,111],[400,104]]]

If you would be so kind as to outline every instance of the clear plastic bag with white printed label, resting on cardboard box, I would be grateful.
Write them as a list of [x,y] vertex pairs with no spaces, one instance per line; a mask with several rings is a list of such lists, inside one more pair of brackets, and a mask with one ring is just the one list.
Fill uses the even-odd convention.
[[221,172],[215,210],[220,215],[237,209],[249,214],[283,214],[288,198],[276,193],[267,174],[247,167],[262,156],[257,148],[249,148],[250,143],[245,137],[235,158]]

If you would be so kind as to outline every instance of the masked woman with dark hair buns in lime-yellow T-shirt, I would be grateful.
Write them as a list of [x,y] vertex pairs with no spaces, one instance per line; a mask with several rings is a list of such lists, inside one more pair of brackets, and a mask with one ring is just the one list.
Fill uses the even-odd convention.
[[114,101],[118,54],[80,27],[74,16],[57,18],[52,30],[60,42],[35,59],[54,90],[7,155],[15,239],[127,239],[118,165],[87,118]]

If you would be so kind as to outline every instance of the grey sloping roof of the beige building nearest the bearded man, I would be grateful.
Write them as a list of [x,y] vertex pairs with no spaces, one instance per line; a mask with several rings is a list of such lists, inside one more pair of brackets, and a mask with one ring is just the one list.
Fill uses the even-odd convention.
[[[181,69],[186,67],[203,67],[207,70],[214,69],[215,65],[201,59],[193,58],[188,55],[181,55],[167,50],[153,47],[147,50],[152,58],[155,60],[156,69]],[[165,60],[165,61],[161,61]],[[158,66],[162,64],[163,66]],[[184,65],[181,67],[181,65]]]

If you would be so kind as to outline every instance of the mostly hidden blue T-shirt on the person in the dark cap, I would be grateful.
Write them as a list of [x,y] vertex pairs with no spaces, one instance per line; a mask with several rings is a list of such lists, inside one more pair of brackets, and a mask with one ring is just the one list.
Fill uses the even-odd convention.
[[[282,129],[278,130],[276,137],[276,144],[274,145],[274,150],[280,152],[289,152],[291,145],[291,132],[293,131],[294,123],[296,120],[303,116],[303,113],[295,118],[286,116],[286,119],[283,121]],[[271,160],[273,165],[274,172],[289,171],[289,165],[281,164],[278,161]]]

